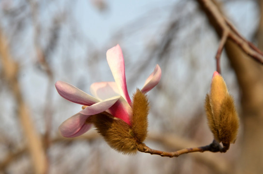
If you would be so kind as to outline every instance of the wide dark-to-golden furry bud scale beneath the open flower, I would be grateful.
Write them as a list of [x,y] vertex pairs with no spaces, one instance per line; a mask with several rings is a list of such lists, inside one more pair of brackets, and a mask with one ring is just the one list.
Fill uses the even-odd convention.
[[122,119],[103,112],[91,116],[91,120],[97,131],[113,149],[123,154],[135,154],[137,142],[131,127]]

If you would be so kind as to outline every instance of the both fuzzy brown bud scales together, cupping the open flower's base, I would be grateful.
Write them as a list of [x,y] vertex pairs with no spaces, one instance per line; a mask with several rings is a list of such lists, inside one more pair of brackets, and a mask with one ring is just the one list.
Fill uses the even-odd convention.
[[146,139],[149,104],[146,94],[137,89],[133,95],[131,125],[107,112],[90,116],[97,131],[113,149],[123,154],[135,154],[137,147]]

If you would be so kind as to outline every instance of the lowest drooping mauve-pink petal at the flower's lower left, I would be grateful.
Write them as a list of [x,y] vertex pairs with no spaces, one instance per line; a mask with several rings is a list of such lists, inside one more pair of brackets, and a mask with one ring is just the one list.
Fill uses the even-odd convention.
[[92,124],[86,123],[89,116],[80,113],[65,120],[58,128],[64,137],[76,137],[88,131]]

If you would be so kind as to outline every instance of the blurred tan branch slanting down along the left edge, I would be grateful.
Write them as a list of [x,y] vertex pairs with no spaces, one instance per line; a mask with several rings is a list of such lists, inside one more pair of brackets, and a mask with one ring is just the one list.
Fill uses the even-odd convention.
[[17,115],[20,118],[20,124],[27,139],[27,146],[36,174],[46,173],[46,156],[43,144],[38,131],[35,128],[33,120],[29,114],[29,108],[25,104],[18,81],[18,63],[12,58],[7,40],[0,29],[0,61],[2,63],[2,72],[4,79],[9,85],[15,100],[17,102]]

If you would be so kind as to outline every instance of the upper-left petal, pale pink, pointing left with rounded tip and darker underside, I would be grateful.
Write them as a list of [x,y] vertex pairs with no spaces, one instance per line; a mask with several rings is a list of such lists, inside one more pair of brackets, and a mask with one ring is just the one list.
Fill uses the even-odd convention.
[[67,82],[57,81],[55,87],[59,95],[71,102],[86,106],[99,102],[98,99],[88,95],[86,92],[83,92],[79,88],[74,87]]

